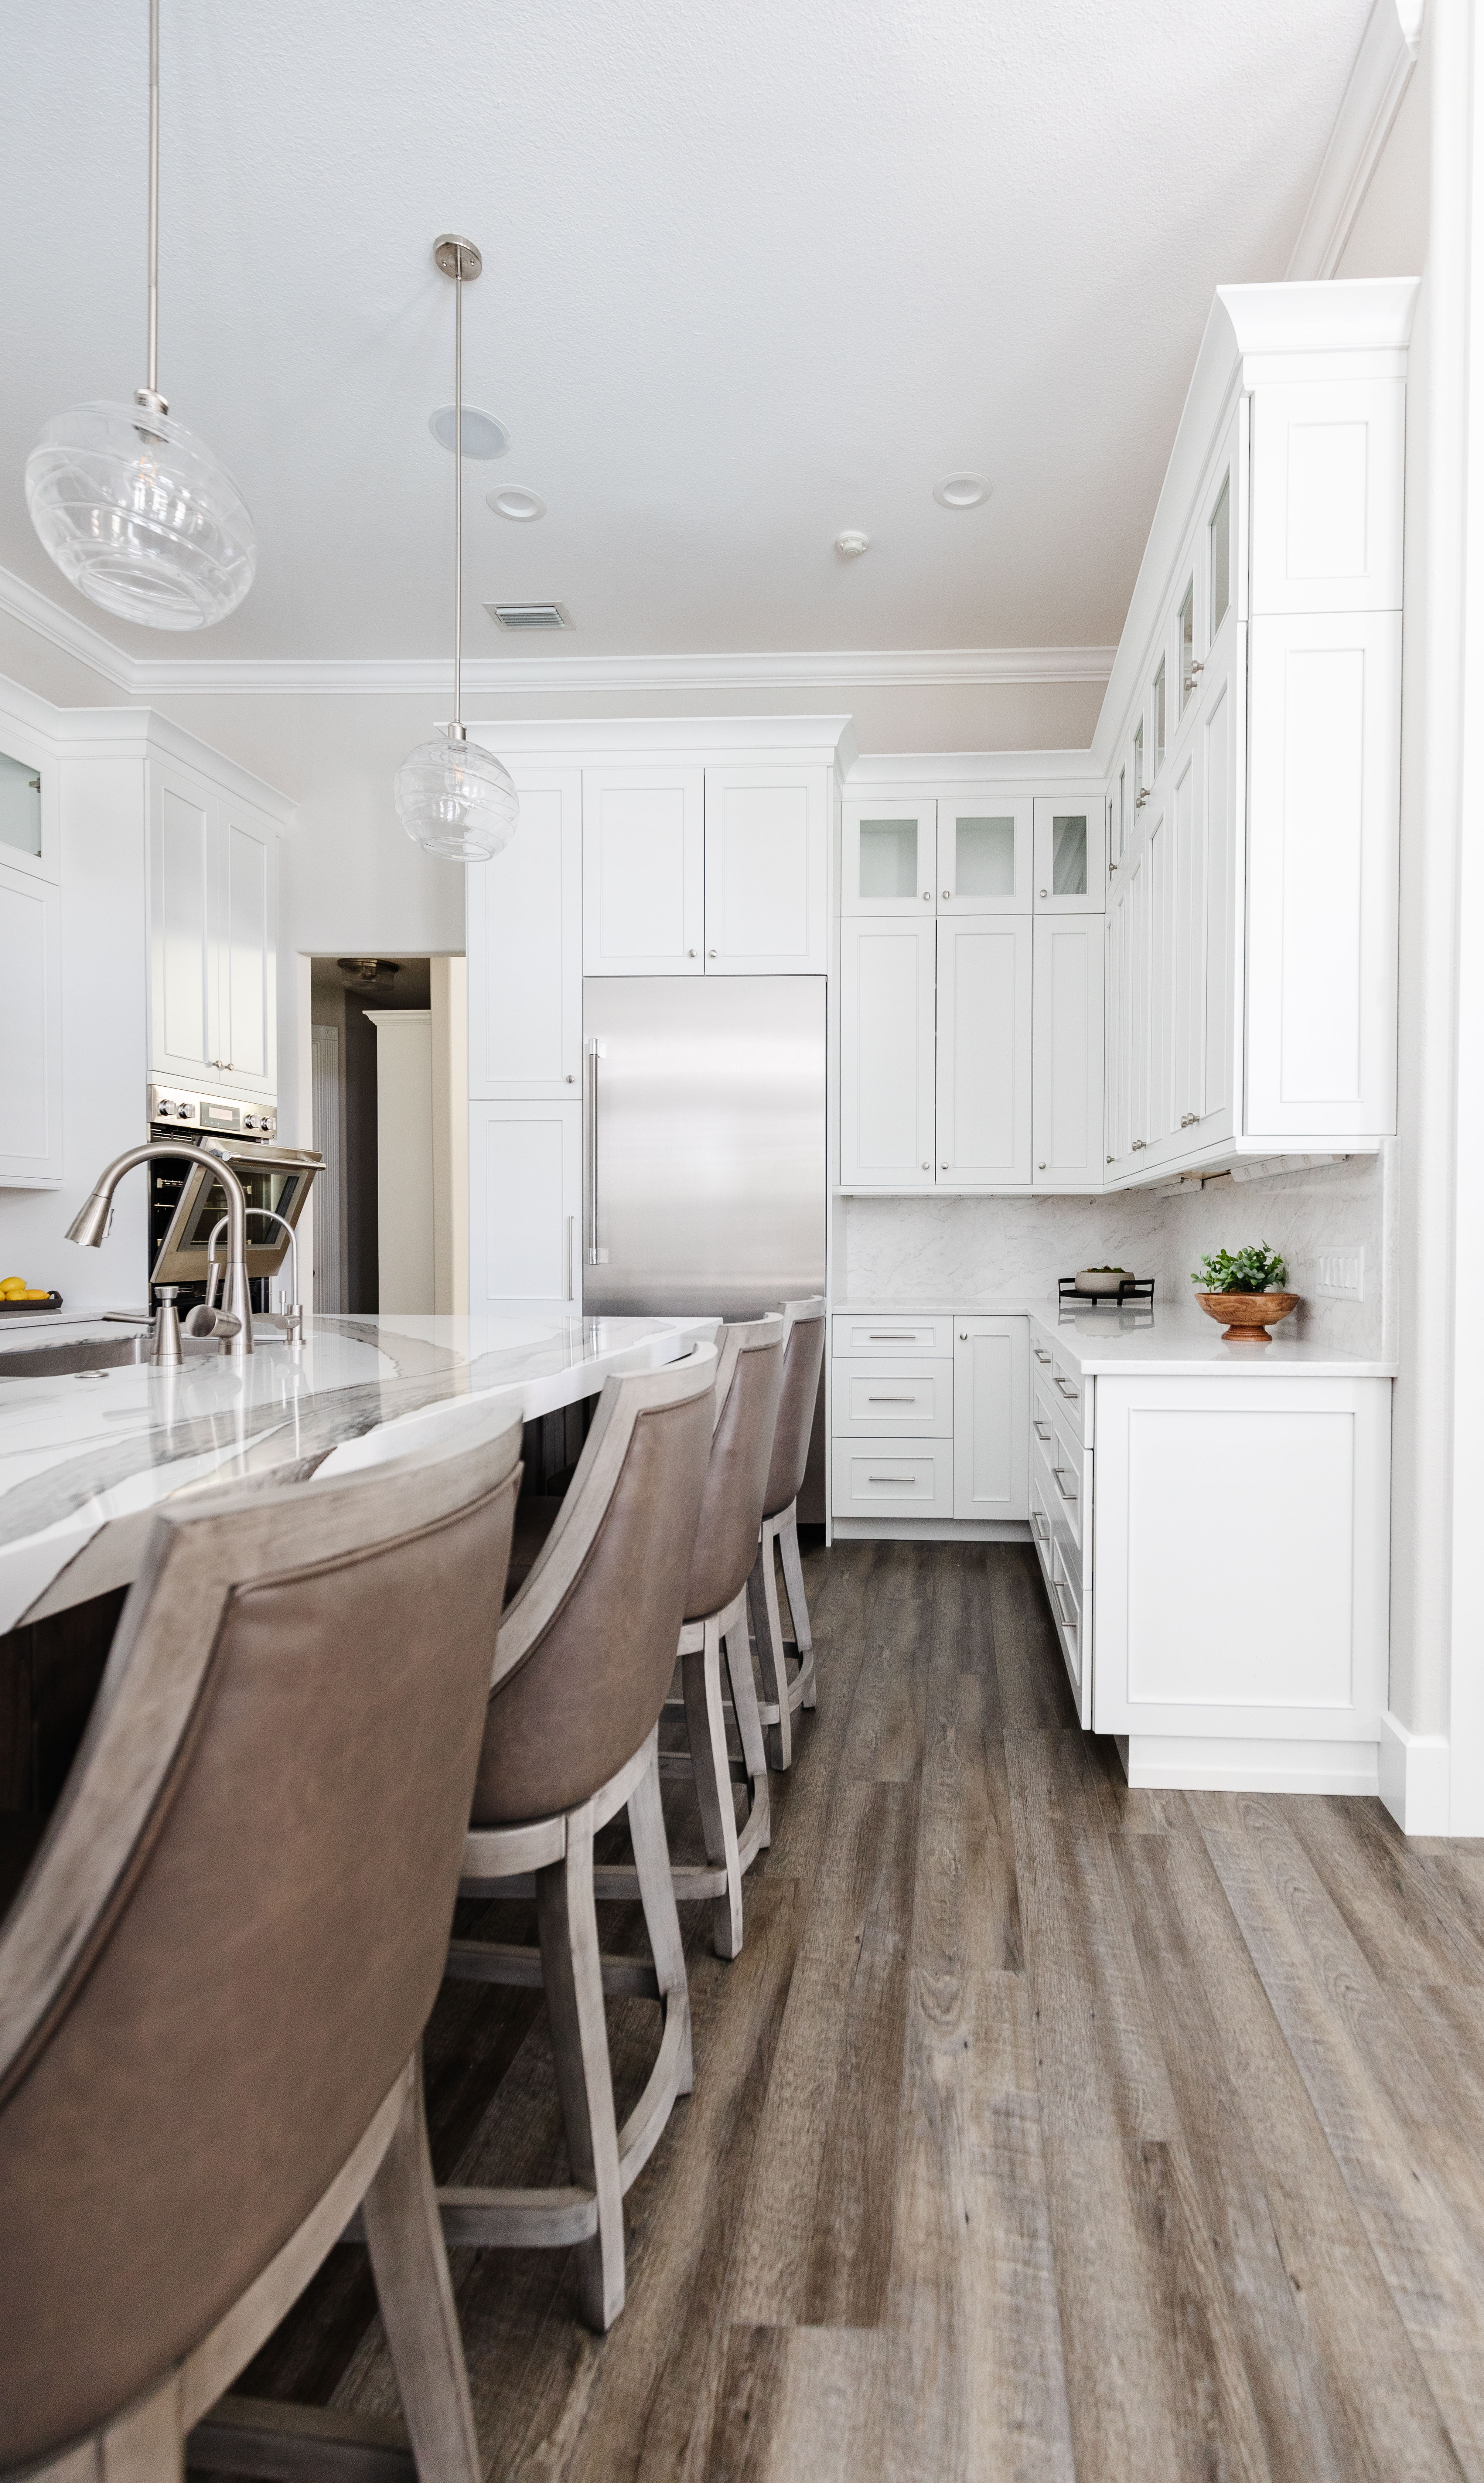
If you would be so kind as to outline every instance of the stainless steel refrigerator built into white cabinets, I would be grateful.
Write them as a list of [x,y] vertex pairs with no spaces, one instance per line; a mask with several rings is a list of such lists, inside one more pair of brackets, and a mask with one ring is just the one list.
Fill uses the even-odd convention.
[[[588,1316],[824,1291],[824,976],[591,976],[583,1055]],[[821,1418],[799,1517],[824,1517]]]

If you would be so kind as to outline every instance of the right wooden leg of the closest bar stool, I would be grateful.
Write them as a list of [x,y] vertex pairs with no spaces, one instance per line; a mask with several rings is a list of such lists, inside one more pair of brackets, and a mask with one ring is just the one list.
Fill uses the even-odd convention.
[[392,2143],[365,2192],[362,2217],[417,2473],[439,2476],[439,2483],[484,2483],[427,2153],[422,2053]]

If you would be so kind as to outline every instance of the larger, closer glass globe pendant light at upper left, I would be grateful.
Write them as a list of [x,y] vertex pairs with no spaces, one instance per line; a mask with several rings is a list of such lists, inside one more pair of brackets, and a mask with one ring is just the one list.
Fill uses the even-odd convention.
[[243,601],[258,536],[236,482],[159,395],[159,0],[149,0],[149,385],[52,415],[25,504],[89,603],[146,628],[208,628]]

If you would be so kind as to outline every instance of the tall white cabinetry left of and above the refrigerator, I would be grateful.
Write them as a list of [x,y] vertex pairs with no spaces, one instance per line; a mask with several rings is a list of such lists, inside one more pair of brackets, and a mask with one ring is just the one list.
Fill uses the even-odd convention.
[[[467,874],[469,1309],[583,1301],[583,978],[819,973],[846,718],[472,725],[521,824]],[[844,745],[844,750],[841,750]]]

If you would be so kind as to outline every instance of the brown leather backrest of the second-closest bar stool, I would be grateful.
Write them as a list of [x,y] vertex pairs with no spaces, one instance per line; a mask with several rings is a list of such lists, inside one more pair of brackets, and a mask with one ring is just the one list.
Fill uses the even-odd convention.
[[499,1629],[474,1827],[598,1793],[675,1671],[705,1490],[715,1346],[610,1378],[541,1554]]

